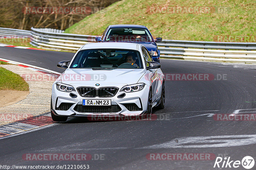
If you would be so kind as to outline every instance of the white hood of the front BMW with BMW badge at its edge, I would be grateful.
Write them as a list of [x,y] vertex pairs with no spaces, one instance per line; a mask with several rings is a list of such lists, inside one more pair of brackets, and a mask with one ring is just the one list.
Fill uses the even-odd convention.
[[144,69],[113,69],[113,70],[92,70],[92,68],[69,69],[67,68],[60,76],[64,84],[77,83],[100,83],[100,84],[136,84],[146,73]]

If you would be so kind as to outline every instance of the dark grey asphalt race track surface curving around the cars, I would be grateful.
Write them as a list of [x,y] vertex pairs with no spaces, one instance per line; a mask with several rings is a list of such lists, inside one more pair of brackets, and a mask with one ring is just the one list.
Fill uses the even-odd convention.
[[[9,47],[0,47],[0,51],[0,58],[57,72],[64,71],[56,67],[57,63],[70,60],[74,55]],[[2,138],[0,164],[89,165],[90,169],[96,170],[234,169],[213,168],[216,158],[149,160],[146,156],[149,153],[211,153],[216,157],[226,155],[234,161],[242,161],[245,156],[256,158],[256,121],[216,121],[213,116],[256,113],[256,65],[161,60],[161,66],[167,75],[213,74],[215,79],[220,79],[220,75],[222,78],[210,81],[166,80],[165,108],[153,109],[156,120],[90,122],[79,117]],[[89,153],[93,160],[23,160],[22,155],[26,153]],[[100,154],[102,160],[98,158]],[[240,165],[236,169],[244,168]]]

